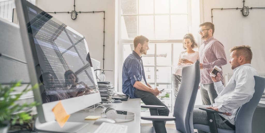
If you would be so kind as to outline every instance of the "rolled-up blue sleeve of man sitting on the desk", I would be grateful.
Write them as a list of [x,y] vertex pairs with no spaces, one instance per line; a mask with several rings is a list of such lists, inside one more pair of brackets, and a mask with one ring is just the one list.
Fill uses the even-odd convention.
[[127,61],[127,72],[131,80],[131,85],[133,86],[136,81],[140,80],[140,66],[139,61],[131,59]]

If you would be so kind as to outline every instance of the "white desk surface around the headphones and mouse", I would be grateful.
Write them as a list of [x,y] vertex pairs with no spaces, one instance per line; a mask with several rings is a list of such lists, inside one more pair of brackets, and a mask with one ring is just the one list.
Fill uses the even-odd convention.
[[[111,103],[111,104],[101,104],[104,107],[115,108],[115,110],[124,110],[135,113],[135,119],[129,122],[117,123],[121,125],[127,125],[127,133],[140,133],[140,111],[141,111],[141,101],[140,99],[128,99],[128,101],[122,101],[122,103]],[[91,116],[100,116],[102,109],[100,107],[96,108],[94,111],[79,111],[72,114],[68,121],[70,122],[85,122],[89,123],[86,127],[78,131],[78,133],[87,133],[94,132],[99,125],[95,125],[92,120],[84,120],[85,117]]]

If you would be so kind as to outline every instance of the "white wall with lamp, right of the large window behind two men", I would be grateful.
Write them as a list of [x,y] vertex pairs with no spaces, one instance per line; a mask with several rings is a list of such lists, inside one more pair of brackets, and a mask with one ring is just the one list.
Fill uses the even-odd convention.
[[[265,7],[264,0],[246,0],[245,6]],[[211,8],[242,8],[242,0],[200,0],[201,23],[211,22]],[[229,49],[233,46],[249,45],[253,52],[252,66],[265,73],[265,9],[249,9],[249,15],[243,16],[238,10],[213,10],[214,37],[223,43],[227,63]],[[263,69],[263,70],[262,70]],[[232,73],[230,64],[223,66],[223,73]]]

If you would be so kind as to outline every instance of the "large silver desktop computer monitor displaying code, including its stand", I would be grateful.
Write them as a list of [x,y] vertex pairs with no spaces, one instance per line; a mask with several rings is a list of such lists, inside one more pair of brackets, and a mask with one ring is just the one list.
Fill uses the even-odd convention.
[[86,39],[26,0],[16,0],[16,8],[30,82],[32,86],[42,82],[44,87],[33,90],[40,103],[35,126],[38,130],[76,132],[86,123],[67,122],[60,128],[52,109],[61,101],[72,114],[101,102]]

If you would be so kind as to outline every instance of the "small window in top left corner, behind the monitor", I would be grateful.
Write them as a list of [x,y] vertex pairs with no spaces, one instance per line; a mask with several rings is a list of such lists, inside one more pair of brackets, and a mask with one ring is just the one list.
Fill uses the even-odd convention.
[[[36,0],[27,0],[36,5]],[[12,22],[13,8],[15,8],[15,0],[0,0],[0,17]]]

